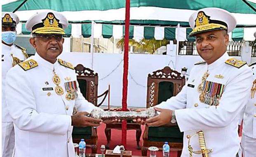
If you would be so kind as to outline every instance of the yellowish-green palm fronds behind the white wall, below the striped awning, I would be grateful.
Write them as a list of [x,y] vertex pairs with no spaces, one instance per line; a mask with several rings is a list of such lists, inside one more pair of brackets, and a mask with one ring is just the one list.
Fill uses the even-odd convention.
[[[169,44],[169,40],[167,39],[156,40],[155,38],[153,39],[143,38],[141,41],[129,39],[129,46],[134,46],[134,51],[139,53],[148,52],[150,54],[154,54],[158,48],[160,48],[161,46],[166,46],[167,44]],[[117,48],[123,48],[123,46],[124,46],[124,38],[120,39],[117,42]]]

